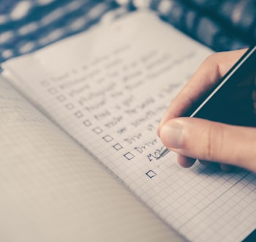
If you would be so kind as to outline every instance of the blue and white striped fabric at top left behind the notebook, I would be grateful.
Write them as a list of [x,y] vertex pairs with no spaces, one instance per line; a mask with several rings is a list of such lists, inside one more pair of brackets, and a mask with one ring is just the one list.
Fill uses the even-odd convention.
[[89,29],[106,15],[123,12],[116,1],[0,1],[0,63]]

